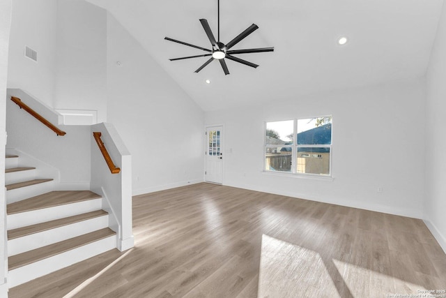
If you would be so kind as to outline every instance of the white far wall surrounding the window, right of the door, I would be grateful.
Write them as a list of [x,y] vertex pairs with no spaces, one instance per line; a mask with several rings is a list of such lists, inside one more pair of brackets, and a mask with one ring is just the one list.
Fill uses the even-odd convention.
[[[326,114],[333,116],[332,181],[263,172],[264,121]],[[206,112],[205,123],[224,124],[225,185],[422,217],[423,80]]]

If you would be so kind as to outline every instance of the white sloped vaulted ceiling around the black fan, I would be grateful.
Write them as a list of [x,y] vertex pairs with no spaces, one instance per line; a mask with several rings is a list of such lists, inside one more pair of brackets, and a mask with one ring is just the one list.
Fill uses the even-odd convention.
[[[226,60],[194,73],[208,57],[164,36],[210,48],[199,19],[217,35],[217,0],[89,0],[107,8],[203,110],[422,77],[426,73],[443,0],[221,0],[220,39],[229,42],[252,23],[259,29],[235,49],[251,68]],[[348,42],[337,40],[346,36]],[[236,56],[236,55],[235,55]],[[210,84],[206,84],[210,80]]]

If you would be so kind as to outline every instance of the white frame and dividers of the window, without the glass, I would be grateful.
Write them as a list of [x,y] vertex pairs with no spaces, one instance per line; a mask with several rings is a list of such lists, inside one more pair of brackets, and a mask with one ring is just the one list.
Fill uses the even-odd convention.
[[[330,144],[298,144],[298,120],[303,119],[312,119],[312,118],[322,118],[322,117],[331,117],[331,143]],[[279,122],[279,121],[293,121],[293,136],[295,136],[295,140],[293,140],[293,144],[284,144],[282,147],[291,147],[291,171],[275,171],[275,170],[266,170],[266,151],[267,148],[279,147],[277,144],[267,144],[266,138],[266,129],[268,123],[271,122]],[[299,117],[295,119],[284,119],[284,120],[275,120],[275,121],[265,121],[263,124],[263,172],[266,174],[279,174],[289,177],[301,177],[301,178],[315,178],[315,179],[332,179],[332,156],[333,156],[333,116],[332,114],[322,115],[317,117]],[[328,174],[313,174],[313,173],[302,173],[298,172],[298,149],[299,148],[328,148],[330,150],[329,158],[330,161],[328,163]],[[309,158],[312,154],[309,155]]]

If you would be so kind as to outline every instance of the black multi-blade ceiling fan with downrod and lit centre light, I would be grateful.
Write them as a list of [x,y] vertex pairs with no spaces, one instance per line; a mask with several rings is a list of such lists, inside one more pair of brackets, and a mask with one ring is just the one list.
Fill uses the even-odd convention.
[[274,51],[274,47],[258,47],[255,49],[245,49],[245,50],[230,50],[231,47],[233,47],[234,45],[236,45],[237,43],[239,43],[241,40],[243,40],[244,38],[246,38],[247,36],[249,36],[249,34],[251,34],[252,32],[256,31],[256,29],[259,29],[259,27],[256,24],[252,24],[251,26],[249,26],[245,31],[243,31],[242,33],[240,33],[238,36],[236,36],[236,38],[233,38],[233,40],[229,41],[229,43],[226,43],[226,45],[222,42],[220,42],[220,0],[217,0],[217,24],[218,24],[218,31],[217,31],[217,38],[218,41],[215,40],[215,37],[212,33],[212,31],[210,30],[208,21],[206,19],[200,19],[201,25],[203,26],[204,31],[206,32],[206,35],[209,38],[210,44],[212,45],[212,49],[206,49],[204,47],[199,47],[197,45],[191,45],[190,43],[185,43],[183,41],[180,40],[175,40],[173,38],[169,38],[169,37],[165,37],[165,40],[170,40],[173,41],[174,43],[180,43],[182,45],[187,45],[189,47],[195,47],[199,50],[203,50],[205,52],[208,52],[208,54],[201,54],[201,55],[196,55],[196,56],[189,56],[189,57],[180,57],[180,58],[174,58],[174,59],[169,59],[170,61],[176,61],[176,60],[183,60],[183,59],[190,59],[190,58],[197,58],[197,57],[210,57],[210,59],[208,61],[206,61],[202,66],[200,66],[197,70],[195,70],[195,73],[198,73],[200,70],[202,70],[203,68],[205,68],[208,64],[210,64],[210,62],[214,61],[215,59],[217,59],[218,61],[220,61],[220,65],[223,68],[224,74],[225,75],[229,75],[229,70],[228,67],[226,66],[226,61],[224,61],[224,59],[229,59],[232,61],[236,61],[238,63],[241,64],[245,64],[247,66],[251,66],[254,68],[257,68],[259,65],[251,63],[249,61],[240,59],[238,57],[234,57],[232,56],[233,54],[247,54],[247,53],[259,53],[259,52],[272,52]]

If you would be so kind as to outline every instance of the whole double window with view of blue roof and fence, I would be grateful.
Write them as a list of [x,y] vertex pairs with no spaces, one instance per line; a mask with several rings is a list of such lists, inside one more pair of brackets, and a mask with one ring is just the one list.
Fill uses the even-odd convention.
[[331,154],[331,116],[266,123],[266,171],[330,176]]

